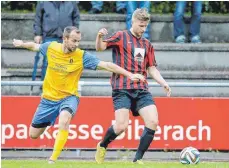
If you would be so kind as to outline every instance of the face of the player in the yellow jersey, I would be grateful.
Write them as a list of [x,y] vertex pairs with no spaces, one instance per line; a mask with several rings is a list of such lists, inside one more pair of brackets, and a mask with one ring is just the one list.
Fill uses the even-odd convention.
[[79,46],[80,40],[81,40],[81,34],[72,31],[69,37],[64,39],[65,48],[69,52],[75,51]]

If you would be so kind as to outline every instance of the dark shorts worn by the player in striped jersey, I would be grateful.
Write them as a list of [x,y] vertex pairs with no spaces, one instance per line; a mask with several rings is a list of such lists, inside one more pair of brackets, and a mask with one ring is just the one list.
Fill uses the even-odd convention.
[[133,116],[139,116],[138,111],[141,108],[155,104],[151,93],[143,89],[113,90],[112,98],[115,111],[122,108],[130,109]]

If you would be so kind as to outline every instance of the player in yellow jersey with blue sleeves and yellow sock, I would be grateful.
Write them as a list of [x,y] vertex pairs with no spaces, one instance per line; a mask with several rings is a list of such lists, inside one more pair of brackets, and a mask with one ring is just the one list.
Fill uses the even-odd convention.
[[67,141],[69,124],[79,104],[78,82],[84,68],[104,69],[134,81],[145,80],[140,74],[132,74],[111,62],[100,61],[96,56],[79,49],[80,40],[80,31],[70,26],[64,30],[63,43],[36,44],[16,39],[13,41],[14,46],[40,51],[48,59],[42,99],[34,114],[29,135],[37,139],[59,116],[59,131],[49,163],[55,163]]

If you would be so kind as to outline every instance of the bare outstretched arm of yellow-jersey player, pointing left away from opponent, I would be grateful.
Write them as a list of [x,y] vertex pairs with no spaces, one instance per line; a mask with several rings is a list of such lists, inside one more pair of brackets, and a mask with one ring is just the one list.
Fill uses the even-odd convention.
[[32,51],[39,51],[40,48],[40,44],[34,42],[23,42],[22,40],[17,40],[17,39],[13,40],[13,45],[15,47],[22,47]]

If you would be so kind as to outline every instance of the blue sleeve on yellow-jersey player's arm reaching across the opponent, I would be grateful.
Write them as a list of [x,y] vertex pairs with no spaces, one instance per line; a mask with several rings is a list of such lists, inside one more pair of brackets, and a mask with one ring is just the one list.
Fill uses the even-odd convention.
[[85,69],[96,70],[97,65],[99,64],[100,60],[93,54],[89,52],[84,52],[83,55],[83,66]]

